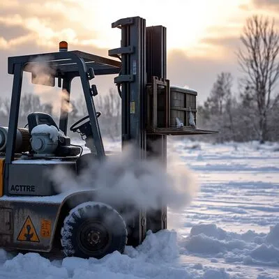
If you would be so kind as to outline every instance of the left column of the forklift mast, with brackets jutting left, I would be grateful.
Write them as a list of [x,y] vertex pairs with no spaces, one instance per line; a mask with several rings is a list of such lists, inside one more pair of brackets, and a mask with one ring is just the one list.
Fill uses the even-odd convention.
[[[134,156],[146,157],[146,132],[144,123],[146,93],[146,21],[142,17],[128,17],[112,23],[121,29],[121,47],[110,50],[112,56],[121,56],[121,74],[114,82],[121,84],[122,146],[133,142]],[[139,211],[133,218],[133,236],[128,245],[137,246],[146,234],[146,212]]]

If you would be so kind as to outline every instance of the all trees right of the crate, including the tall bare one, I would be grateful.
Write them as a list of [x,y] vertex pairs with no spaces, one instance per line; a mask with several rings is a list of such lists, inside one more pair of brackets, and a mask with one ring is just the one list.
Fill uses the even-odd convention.
[[232,94],[232,75],[221,73],[199,107],[202,125],[220,130],[227,140],[279,140],[279,31],[274,19],[248,18],[237,59],[243,76]]

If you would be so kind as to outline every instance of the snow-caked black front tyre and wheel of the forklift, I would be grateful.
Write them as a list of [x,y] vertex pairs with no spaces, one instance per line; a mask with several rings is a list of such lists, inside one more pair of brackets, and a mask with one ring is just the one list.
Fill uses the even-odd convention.
[[126,223],[111,206],[84,202],[72,209],[61,229],[66,256],[100,259],[116,250],[123,252],[127,241]]

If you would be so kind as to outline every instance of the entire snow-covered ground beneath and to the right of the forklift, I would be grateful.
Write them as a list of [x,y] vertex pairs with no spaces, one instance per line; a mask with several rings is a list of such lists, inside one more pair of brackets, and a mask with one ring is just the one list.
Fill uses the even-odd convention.
[[[109,150],[119,145],[108,144]],[[279,278],[279,145],[169,142],[200,190],[169,230],[125,255],[46,259],[0,250],[0,278]]]

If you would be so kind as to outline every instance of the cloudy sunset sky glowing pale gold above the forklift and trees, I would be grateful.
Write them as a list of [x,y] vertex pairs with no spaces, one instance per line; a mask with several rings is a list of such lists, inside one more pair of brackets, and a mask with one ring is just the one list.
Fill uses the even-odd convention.
[[[69,50],[107,56],[121,40],[112,22],[138,15],[146,26],[167,27],[167,78],[197,90],[202,103],[222,71],[232,73],[236,91],[239,37],[246,19],[255,14],[279,22],[279,0],[1,0],[1,96],[10,98],[12,88],[8,56],[54,52],[60,40],[68,42]],[[94,82],[99,93],[114,88],[113,76]]]

